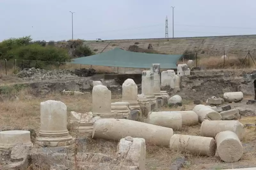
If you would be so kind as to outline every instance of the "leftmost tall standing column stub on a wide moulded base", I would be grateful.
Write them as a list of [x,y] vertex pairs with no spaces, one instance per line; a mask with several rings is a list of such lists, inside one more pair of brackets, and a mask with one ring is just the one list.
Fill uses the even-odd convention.
[[61,101],[41,102],[41,127],[36,138],[40,146],[66,146],[74,143],[67,129],[67,106]]

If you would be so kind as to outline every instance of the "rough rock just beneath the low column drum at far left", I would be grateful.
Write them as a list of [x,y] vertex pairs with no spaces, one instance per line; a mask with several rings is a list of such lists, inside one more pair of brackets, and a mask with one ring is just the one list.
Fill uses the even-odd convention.
[[27,159],[29,154],[29,147],[24,144],[15,145],[12,147],[11,159],[20,160]]

